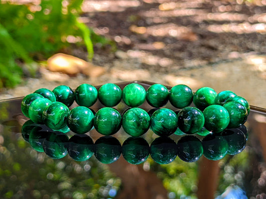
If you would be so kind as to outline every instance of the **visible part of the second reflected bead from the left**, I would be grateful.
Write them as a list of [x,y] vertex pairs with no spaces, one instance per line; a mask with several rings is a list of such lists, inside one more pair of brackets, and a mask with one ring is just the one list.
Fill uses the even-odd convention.
[[28,142],[34,150],[43,152],[42,142],[48,135],[47,131],[39,131],[39,128],[35,127],[29,134]]

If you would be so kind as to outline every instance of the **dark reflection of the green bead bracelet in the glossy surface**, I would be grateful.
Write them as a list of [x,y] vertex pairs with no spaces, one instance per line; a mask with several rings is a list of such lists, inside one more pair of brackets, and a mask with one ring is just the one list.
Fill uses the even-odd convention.
[[202,155],[210,160],[220,160],[226,154],[236,155],[246,146],[247,128],[243,125],[226,129],[221,134],[209,134],[202,140],[194,135],[185,135],[177,143],[169,137],[158,137],[151,145],[143,137],[129,137],[122,146],[112,136],[93,140],[86,134],[75,134],[70,139],[66,134],[48,129],[45,125],[26,121],[21,128],[22,137],[32,148],[44,152],[53,159],[67,154],[75,161],[86,161],[94,154],[101,163],[117,161],[122,153],[130,164],[141,164],[151,158],[159,164],[168,164],[178,156],[185,162],[195,162]]

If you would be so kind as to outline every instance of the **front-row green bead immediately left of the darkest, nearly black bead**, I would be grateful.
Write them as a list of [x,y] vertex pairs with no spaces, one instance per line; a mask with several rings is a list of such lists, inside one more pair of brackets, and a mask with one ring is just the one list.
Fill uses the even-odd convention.
[[151,116],[151,129],[159,136],[172,135],[177,129],[177,115],[173,110],[161,108]]

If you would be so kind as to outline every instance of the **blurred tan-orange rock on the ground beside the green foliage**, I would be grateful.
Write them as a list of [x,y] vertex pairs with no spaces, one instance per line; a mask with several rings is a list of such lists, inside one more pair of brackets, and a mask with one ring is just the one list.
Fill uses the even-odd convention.
[[92,63],[63,53],[51,56],[47,60],[47,69],[72,76],[83,73],[90,77],[98,77],[105,72],[105,69],[100,66],[95,66]]

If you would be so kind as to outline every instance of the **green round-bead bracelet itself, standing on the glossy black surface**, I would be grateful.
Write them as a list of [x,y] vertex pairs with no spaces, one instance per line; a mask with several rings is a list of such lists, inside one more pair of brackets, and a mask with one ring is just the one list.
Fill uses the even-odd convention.
[[[104,107],[94,115],[88,107],[95,103],[97,97],[106,106],[117,105],[122,98],[133,108],[121,116],[116,109]],[[135,107],[145,99],[154,107],[161,107],[169,100],[173,106],[182,109],[176,114],[171,109],[161,108],[149,115],[145,110]],[[68,106],[74,100],[80,106],[69,111]],[[188,106],[192,101],[196,107]],[[246,122],[250,107],[247,100],[231,91],[217,94],[213,89],[204,87],[193,95],[186,85],[177,85],[168,92],[165,86],[155,84],[145,92],[141,85],[132,83],[123,92],[114,84],[103,85],[99,92],[88,84],[80,85],[75,92],[67,86],[58,86],[52,92],[39,89],[22,100],[21,110],[35,123],[44,123],[51,129],[68,125],[78,134],[88,132],[94,125],[99,133],[112,135],[122,125],[132,136],[144,134],[149,127],[159,136],[169,136],[177,129],[194,134],[203,127],[214,133],[239,127]]]

